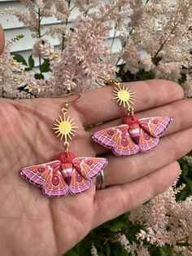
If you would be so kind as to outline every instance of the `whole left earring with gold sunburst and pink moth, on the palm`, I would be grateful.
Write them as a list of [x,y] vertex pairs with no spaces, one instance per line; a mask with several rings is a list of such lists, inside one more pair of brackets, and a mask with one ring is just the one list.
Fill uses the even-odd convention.
[[72,139],[77,127],[69,116],[66,117],[67,111],[68,104],[65,104],[62,109],[63,119],[59,117],[53,128],[61,140],[64,138],[64,152],[59,153],[55,161],[20,170],[21,177],[42,188],[46,196],[58,197],[84,192],[91,187],[92,179],[107,166],[105,158],[75,158],[72,152],[68,152],[68,139]]

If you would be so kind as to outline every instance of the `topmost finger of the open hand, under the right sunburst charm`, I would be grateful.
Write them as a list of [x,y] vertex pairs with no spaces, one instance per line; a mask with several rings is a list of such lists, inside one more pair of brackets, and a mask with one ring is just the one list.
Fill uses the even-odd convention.
[[[155,108],[177,99],[183,98],[183,90],[175,82],[165,80],[149,80],[142,82],[124,83],[134,92],[135,111]],[[81,100],[75,108],[81,113],[84,125],[91,125],[101,121],[110,121],[127,113],[115,100],[112,100],[114,86],[106,86],[96,90],[89,90],[81,95]]]

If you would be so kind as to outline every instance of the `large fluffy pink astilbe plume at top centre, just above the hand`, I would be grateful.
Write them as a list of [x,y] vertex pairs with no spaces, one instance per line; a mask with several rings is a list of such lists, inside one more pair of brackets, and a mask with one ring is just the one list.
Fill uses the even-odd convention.
[[80,16],[75,21],[63,52],[50,62],[52,77],[49,82],[55,90],[87,90],[94,87],[98,76],[115,75],[115,60],[111,61],[109,49],[103,42],[108,33],[107,25],[98,25],[95,17]]

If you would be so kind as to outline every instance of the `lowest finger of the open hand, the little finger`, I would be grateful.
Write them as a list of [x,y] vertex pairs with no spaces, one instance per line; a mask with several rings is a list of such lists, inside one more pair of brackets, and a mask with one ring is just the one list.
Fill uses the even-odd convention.
[[94,197],[95,216],[97,216],[94,227],[133,210],[152,197],[164,192],[177,179],[180,172],[179,164],[174,161],[132,183],[99,190]]

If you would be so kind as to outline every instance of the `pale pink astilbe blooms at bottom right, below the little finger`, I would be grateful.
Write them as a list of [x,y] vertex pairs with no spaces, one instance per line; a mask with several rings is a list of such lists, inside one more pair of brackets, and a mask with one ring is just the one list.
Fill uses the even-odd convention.
[[137,234],[139,241],[146,240],[153,245],[171,245],[175,251],[185,251],[185,246],[178,246],[192,232],[192,196],[185,201],[177,201],[176,194],[182,188],[168,188],[154,199],[132,210],[130,220],[145,223],[146,232]]

